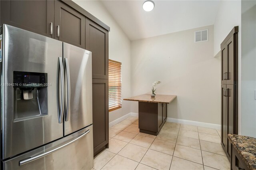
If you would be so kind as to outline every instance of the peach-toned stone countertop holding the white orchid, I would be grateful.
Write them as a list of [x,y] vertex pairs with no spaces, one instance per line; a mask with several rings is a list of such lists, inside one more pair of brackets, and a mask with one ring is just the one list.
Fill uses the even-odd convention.
[[134,97],[129,97],[124,100],[129,101],[141,101],[150,103],[171,103],[177,96],[176,95],[156,95],[151,97],[150,94],[138,95]]

